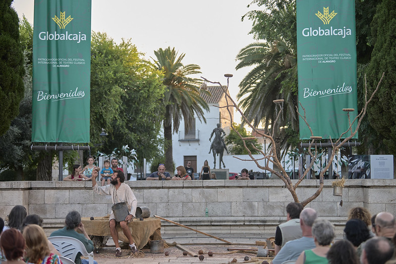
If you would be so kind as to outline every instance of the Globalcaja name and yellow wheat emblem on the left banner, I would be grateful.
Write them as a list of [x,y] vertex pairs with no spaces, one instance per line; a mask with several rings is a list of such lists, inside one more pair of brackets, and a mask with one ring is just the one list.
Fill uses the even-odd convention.
[[[70,15],[66,17],[65,15],[65,11],[64,12],[60,12],[60,18],[58,18],[56,15],[55,17],[51,17],[55,23],[57,23],[57,25],[59,26],[59,29],[64,29],[66,27],[66,25],[68,23],[70,23],[71,20],[73,20],[74,18],[72,18]],[[81,41],[86,41],[87,40],[87,35],[78,32],[78,34],[74,34],[74,33],[69,33],[69,32],[65,32],[65,33],[58,33],[57,31],[55,32],[48,32],[48,31],[42,31],[39,33],[39,39],[40,40],[44,40],[44,41],[48,41],[48,40],[55,40],[55,41],[76,41],[77,43],[80,43]]]

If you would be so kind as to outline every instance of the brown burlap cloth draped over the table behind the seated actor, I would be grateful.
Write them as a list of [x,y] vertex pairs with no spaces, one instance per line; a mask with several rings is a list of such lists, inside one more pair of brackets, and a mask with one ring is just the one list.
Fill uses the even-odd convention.
[[[81,218],[81,222],[84,224],[85,231],[88,235],[93,236],[110,236],[109,227],[110,215],[104,217],[95,217],[94,220],[90,220],[89,217]],[[161,240],[161,220],[155,217],[144,218],[143,221],[139,219],[133,219],[129,224],[129,230],[131,230],[132,238],[135,241],[135,245],[138,249],[142,249],[149,240]],[[128,243],[128,239],[122,232],[121,226],[117,224],[118,240]]]

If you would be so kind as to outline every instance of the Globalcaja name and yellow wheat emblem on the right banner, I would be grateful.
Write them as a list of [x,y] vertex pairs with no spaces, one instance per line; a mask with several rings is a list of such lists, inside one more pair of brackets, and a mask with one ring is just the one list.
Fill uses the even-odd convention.
[[[323,7],[323,14],[318,10],[318,13],[315,15],[319,17],[320,20],[322,20],[323,24],[329,25],[330,21],[337,15],[334,10],[329,14],[329,7]],[[352,35],[352,30],[350,28],[333,28],[331,26],[330,28],[304,28],[302,30],[302,36],[303,37],[322,37],[322,36],[341,36],[342,38],[345,38],[346,36]]]

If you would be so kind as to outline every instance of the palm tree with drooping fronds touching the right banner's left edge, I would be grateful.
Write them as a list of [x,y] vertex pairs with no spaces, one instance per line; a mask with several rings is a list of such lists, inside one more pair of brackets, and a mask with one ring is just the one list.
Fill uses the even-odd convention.
[[[244,115],[254,126],[260,124],[267,130],[275,131],[277,151],[287,148],[284,129],[291,127],[298,131],[297,104],[297,67],[295,55],[282,42],[270,45],[266,42],[256,42],[243,48],[236,59],[239,63],[236,69],[254,66],[239,84],[240,107]],[[280,107],[274,100],[283,99],[283,112],[275,123]],[[278,156],[281,157],[281,156]]]

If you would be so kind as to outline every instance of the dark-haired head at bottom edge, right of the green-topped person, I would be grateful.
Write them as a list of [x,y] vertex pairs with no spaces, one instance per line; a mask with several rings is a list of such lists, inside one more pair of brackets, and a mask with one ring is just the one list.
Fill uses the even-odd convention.
[[339,240],[327,252],[329,264],[359,264],[356,249],[348,240]]

